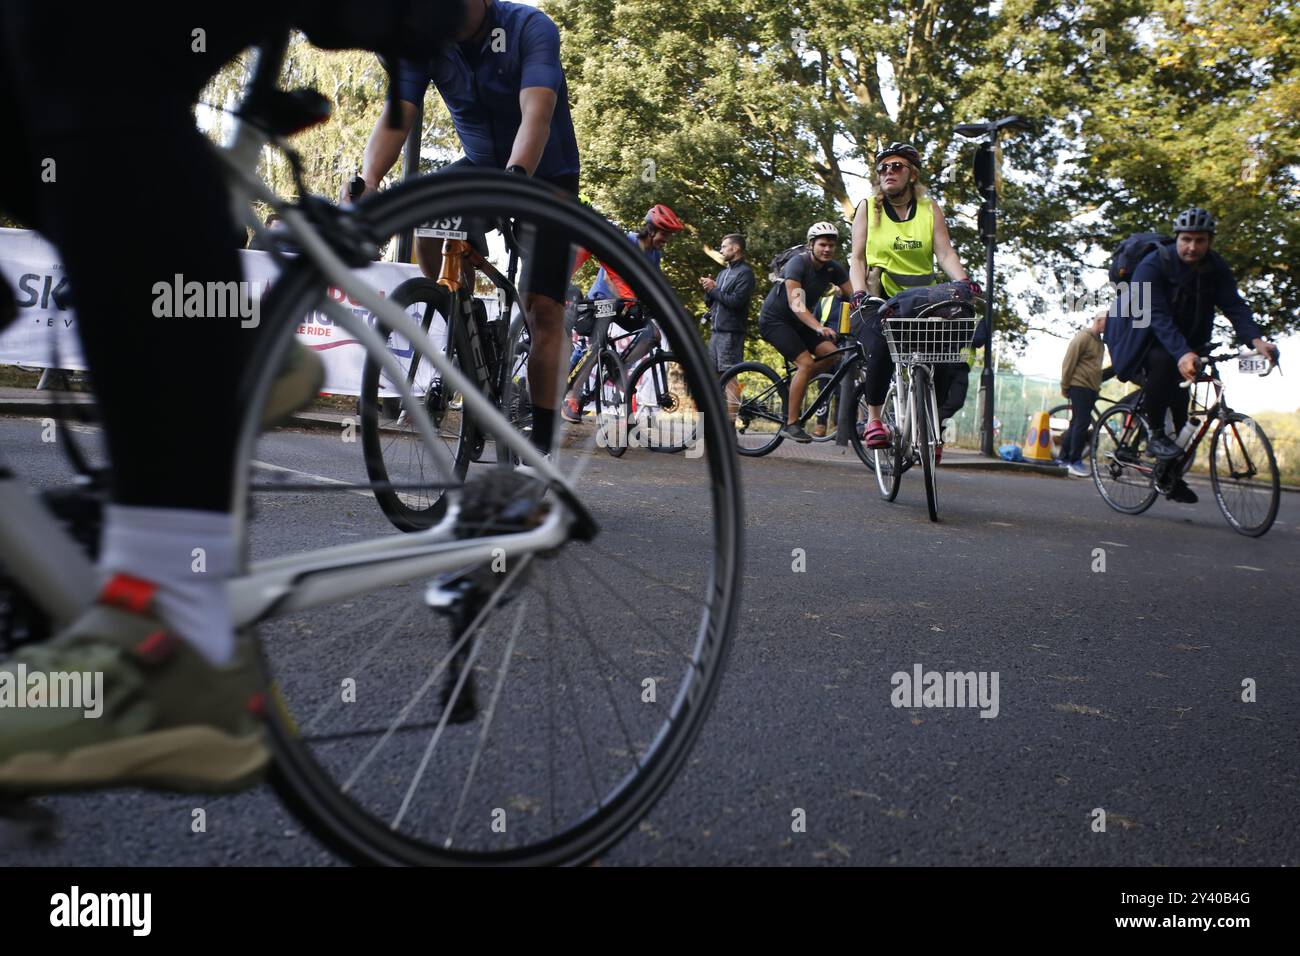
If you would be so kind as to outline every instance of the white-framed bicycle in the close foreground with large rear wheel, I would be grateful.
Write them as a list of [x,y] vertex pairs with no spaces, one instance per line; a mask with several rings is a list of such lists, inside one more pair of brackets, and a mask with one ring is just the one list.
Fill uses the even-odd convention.
[[[237,208],[252,198],[264,200],[281,213],[296,247],[264,299],[264,338],[255,360],[240,371],[247,401],[240,403],[231,498],[240,536],[237,553],[244,555],[229,585],[231,614],[238,628],[255,636],[272,688],[272,784],[308,830],[355,862],[590,860],[627,832],[684,766],[716,698],[734,632],[744,520],[738,463],[724,441],[722,403],[703,388],[712,372],[672,291],[632,254],[623,234],[536,182],[458,172],[407,181],[355,207],[312,196],[303,189],[296,153],[283,142],[306,120],[300,94],[276,88],[286,44],[287,36],[278,36],[261,49],[234,143],[218,151]],[[276,196],[254,173],[263,147],[272,143],[295,169],[303,196],[296,203]],[[670,571],[647,571],[621,555],[644,546],[630,531],[612,549],[602,544],[621,529],[608,516],[627,496],[602,490],[607,483],[599,480],[581,484],[586,472],[599,473],[594,455],[562,472],[560,462],[534,449],[411,316],[352,272],[387,237],[458,211],[515,217],[566,234],[601,255],[654,307],[701,395],[701,428],[708,438],[702,459],[708,473],[694,484],[673,483],[672,506],[698,544],[682,546],[685,531],[670,531]],[[463,395],[476,427],[532,475],[514,471],[499,454],[498,464],[456,480],[454,462],[385,336],[330,300],[332,286],[370,310],[378,328],[407,338]],[[325,511],[322,522],[307,509],[322,492],[369,497],[380,483],[252,479],[266,470],[259,442],[276,440],[260,437],[268,392],[298,321],[316,308],[355,336],[406,403],[439,467],[439,481],[428,485],[447,496],[446,514],[434,525],[408,535],[385,525],[386,535],[339,544],[339,510]],[[508,405],[508,394],[506,399]],[[322,523],[316,531],[328,546],[285,554],[260,537],[251,520],[252,493],[287,496],[259,498],[277,503],[256,510],[303,510],[294,512],[295,529],[306,533]],[[72,498],[81,497],[74,489]],[[6,589],[29,600],[44,618],[46,632],[68,624],[96,593],[86,550],[9,471],[0,471],[0,501]],[[60,514],[70,516],[73,532],[86,529],[73,510],[61,507]],[[637,535],[644,531],[636,525]],[[653,600],[629,594],[633,575],[615,581],[606,575],[610,567],[630,568]],[[428,589],[411,587],[430,578]],[[552,587],[556,578],[560,591]],[[608,600],[593,597],[595,587]],[[692,596],[699,601],[696,611],[689,604],[685,613],[667,606]],[[642,605],[656,607],[653,619]],[[500,614],[506,607],[510,611]],[[433,611],[433,633],[417,626],[417,610]],[[29,632],[40,631],[42,622],[35,623]],[[647,643],[651,646],[644,646]],[[646,654],[654,658],[653,679],[646,676]],[[474,671],[491,676],[491,696],[485,708],[471,708],[473,723],[460,724],[464,708],[458,705],[467,700]],[[447,675],[454,678],[443,684],[450,693],[439,704],[425,701]],[[360,678],[370,692],[344,704],[339,680],[348,676]],[[510,678],[515,680],[507,695]],[[658,696],[645,680],[660,685]],[[578,704],[575,697],[586,692]],[[503,726],[517,730],[519,739],[493,749]],[[430,765],[437,767],[433,774]],[[485,784],[489,767],[507,775],[497,790]],[[416,801],[420,813],[411,812]],[[468,817],[473,826],[465,823]],[[507,817],[508,827],[498,827]]]

